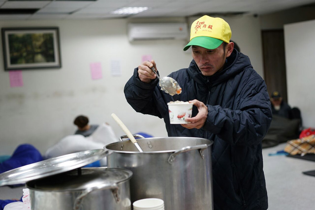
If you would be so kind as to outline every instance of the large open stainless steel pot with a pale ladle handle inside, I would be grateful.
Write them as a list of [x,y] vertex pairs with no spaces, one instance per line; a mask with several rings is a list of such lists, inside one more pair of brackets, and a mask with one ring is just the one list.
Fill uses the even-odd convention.
[[[121,137],[120,139],[122,140]],[[131,202],[160,198],[168,210],[213,209],[211,145],[213,141],[190,137],[137,139],[140,153],[131,141],[105,148],[107,166],[133,172]]]

